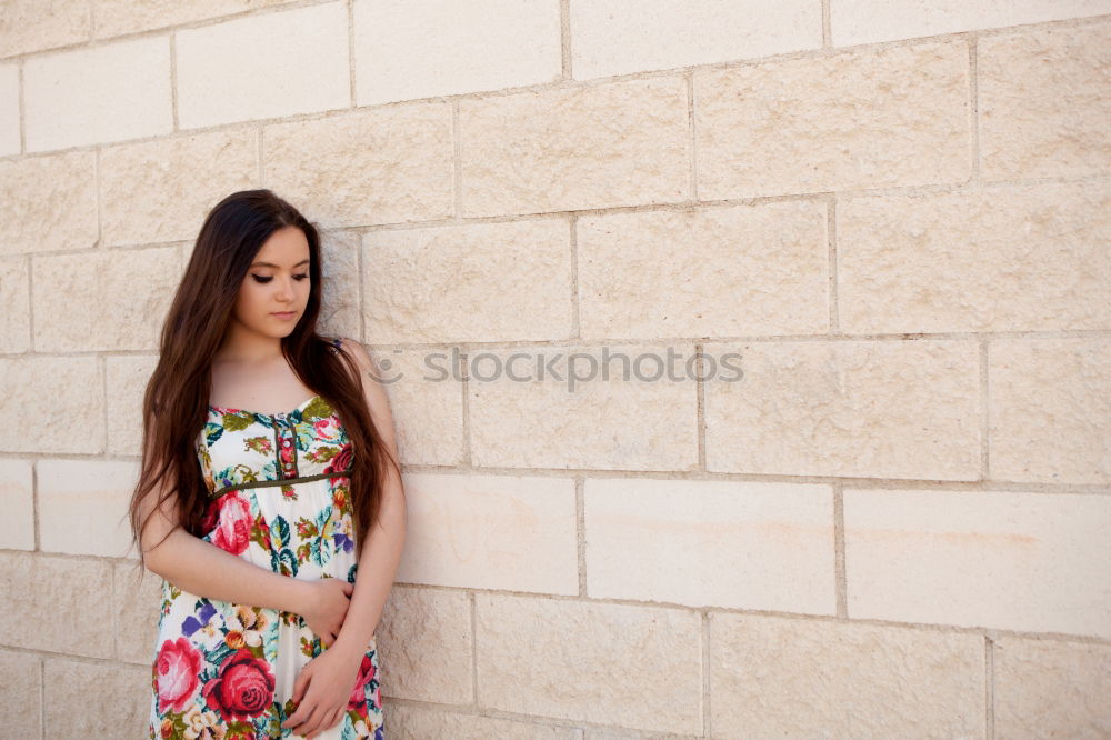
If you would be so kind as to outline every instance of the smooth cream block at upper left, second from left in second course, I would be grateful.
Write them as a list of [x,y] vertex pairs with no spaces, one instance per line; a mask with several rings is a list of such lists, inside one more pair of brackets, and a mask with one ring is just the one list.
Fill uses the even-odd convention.
[[27,151],[169,133],[169,38],[127,39],[26,60],[23,123]]

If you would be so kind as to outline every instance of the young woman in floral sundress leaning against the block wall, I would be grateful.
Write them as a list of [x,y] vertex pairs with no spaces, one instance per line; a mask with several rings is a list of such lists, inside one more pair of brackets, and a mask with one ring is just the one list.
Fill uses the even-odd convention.
[[130,508],[163,579],[151,738],[384,737],[374,630],[404,492],[376,366],[317,333],[320,277],[312,224],[232,193],[162,328]]

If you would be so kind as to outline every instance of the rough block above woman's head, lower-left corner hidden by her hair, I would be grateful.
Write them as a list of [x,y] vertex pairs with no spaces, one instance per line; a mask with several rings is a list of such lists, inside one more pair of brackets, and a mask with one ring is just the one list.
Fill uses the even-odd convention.
[[263,182],[317,226],[452,214],[451,106],[412,103],[267,126]]

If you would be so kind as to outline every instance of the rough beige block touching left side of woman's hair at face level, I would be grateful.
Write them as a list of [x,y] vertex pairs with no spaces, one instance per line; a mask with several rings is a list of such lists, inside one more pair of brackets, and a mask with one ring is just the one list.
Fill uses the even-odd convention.
[[157,349],[181,273],[177,247],[34,256],[34,349]]

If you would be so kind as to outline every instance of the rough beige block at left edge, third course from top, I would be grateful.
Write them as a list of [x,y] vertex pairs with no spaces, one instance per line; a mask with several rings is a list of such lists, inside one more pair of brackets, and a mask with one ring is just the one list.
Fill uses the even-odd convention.
[[97,244],[96,152],[0,160],[0,254]]

